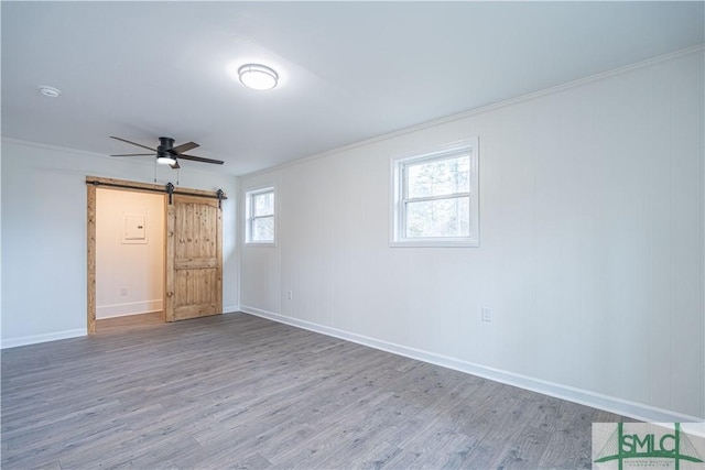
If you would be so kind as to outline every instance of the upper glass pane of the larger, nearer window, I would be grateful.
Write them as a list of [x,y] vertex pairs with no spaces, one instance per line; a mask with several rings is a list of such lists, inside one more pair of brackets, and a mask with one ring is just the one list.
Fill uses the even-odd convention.
[[470,156],[436,160],[408,166],[406,194],[416,197],[470,192]]

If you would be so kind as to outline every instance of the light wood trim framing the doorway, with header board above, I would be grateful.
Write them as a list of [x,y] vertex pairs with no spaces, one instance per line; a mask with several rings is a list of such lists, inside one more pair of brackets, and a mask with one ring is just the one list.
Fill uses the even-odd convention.
[[[152,183],[139,183],[128,179],[115,179],[104,178],[100,176],[86,176],[86,212],[87,212],[87,313],[86,323],[88,335],[96,334],[96,189],[100,186],[108,188],[129,190],[138,193],[162,193],[164,194],[164,204],[167,204],[166,186]],[[183,187],[174,187],[173,194],[182,194],[186,196],[207,197],[216,199],[227,199],[227,195],[221,192],[192,189]],[[166,227],[167,211],[164,211],[164,227]],[[166,230],[164,230],[164,237],[166,237]],[[166,240],[164,240],[164,250],[166,250]],[[166,254],[166,253],[165,253]],[[164,256],[166,262],[166,256]],[[163,294],[165,297],[165,294]],[[223,302],[220,302],[223,304]],[[162,298],[162,305],[166,305],[166,299]]]

